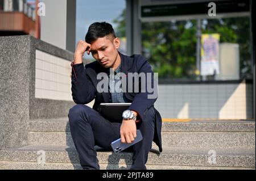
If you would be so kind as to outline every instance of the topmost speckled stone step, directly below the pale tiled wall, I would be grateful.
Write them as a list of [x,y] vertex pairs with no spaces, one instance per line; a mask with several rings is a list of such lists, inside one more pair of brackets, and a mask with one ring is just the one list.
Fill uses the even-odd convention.
[[[58,119],[31,120],[32,132],[69,132],[68,117]],[[167,122],[162,132],[255,132],[255,120],[191,120],[189,122]]]

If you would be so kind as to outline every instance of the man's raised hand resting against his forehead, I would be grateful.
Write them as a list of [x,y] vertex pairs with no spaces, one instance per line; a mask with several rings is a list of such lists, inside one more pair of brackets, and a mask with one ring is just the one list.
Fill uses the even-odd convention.
[[87,54],[90,54],[90,44],[86,43],[85,41],[79,40],[74,53],[74,64],[82,63],[82,56],[84,56],[85,52],[87,52]]

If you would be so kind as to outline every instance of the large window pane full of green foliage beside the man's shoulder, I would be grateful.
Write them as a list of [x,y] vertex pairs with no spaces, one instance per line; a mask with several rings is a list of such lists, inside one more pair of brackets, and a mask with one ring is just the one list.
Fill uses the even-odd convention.
[[196,78],[196,20],[142,23],[142,49],[159,78]]

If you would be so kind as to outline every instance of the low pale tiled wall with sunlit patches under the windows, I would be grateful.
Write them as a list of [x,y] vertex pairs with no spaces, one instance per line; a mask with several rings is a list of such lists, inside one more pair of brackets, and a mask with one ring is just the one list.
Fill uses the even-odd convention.
[[163,118],[253,118],[253,83],[225,81],[159,85]]

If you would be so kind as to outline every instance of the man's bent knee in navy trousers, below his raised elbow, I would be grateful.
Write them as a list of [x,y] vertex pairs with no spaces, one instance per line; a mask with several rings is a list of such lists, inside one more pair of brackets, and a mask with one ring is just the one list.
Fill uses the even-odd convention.
[[91,110],[92,110],[92,108],[90,108],[84,104],[76,104],[68,112],[69,122],[79,120],[78,118],[81,117],[82,115],[84,115],[84,116],[89,115],[89,112]]

